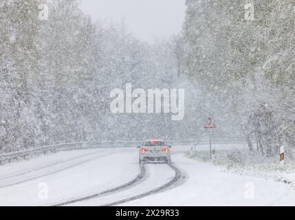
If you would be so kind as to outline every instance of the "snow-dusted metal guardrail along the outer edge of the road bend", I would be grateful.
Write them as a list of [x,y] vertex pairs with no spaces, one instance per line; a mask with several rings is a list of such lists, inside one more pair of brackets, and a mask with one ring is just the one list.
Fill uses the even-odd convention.
[[[208,140],[169,140],[171,145],[186,145],[186,144],[207,144]],[[116,147],[131,147],[137,146],[141,142],[125,142],[125,141],[112,141],[112,142],[72,142],[63,144],[52,144],[47,146],[40,146],[35,148],[28,148],[22,151],[14,151],[10,153],[0,154],[0,164],[3,162],[11,161],[12,159],[24,158],[27,159],[30,155],[40,153],[49,153],[57,151],[69,151],[76,149],[89,149],[89,148],[116,148]],[[243,140],[212,140],[215,144],[232,144],[243,143]]]

